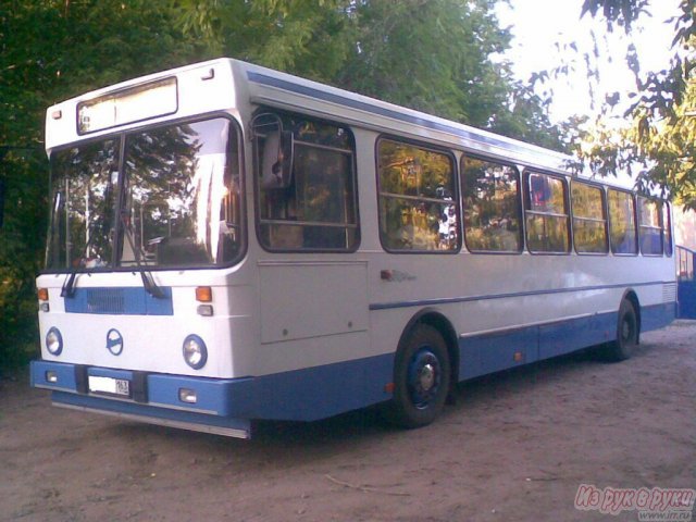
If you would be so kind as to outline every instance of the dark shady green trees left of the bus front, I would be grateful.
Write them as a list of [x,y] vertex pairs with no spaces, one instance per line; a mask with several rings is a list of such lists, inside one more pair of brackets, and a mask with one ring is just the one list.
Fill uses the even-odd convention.
[[34,277],[44,263],[46,108],[114,82],[181,65],[200,48],[169,2],[0,0],[0,366],[36,343]]

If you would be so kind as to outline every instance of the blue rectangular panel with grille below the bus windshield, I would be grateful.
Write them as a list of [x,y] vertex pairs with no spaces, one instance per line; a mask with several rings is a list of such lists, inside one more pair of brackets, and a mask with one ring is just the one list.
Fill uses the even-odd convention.
[[67,313],[109,315],[173,315],[172,288],[160,287],[164,297],[156,298],[144,287],[76,288],[65,297]]

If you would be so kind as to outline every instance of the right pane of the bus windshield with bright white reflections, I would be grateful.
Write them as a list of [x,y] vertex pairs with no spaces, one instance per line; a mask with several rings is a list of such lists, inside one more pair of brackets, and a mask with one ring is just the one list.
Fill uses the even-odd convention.
[[236,256],[239,170],[231,129],[215,119],[128,136],[122,265],[204,266]]

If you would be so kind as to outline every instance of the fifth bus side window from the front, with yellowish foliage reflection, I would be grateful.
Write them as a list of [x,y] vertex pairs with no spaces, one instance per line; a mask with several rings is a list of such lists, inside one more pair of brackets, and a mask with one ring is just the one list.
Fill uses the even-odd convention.
[[573,239],[577,253],[607,253],[607,216],[604,190],[583,183],[573,182]]

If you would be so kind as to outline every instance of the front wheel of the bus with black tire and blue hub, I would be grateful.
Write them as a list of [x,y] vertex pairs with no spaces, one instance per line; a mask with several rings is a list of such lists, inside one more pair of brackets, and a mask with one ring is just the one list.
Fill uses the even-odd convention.
[[417,325],[397,350],[390,420],[402,427],[433,422],[443,411],[450,380],[443,336],[432,326]]

